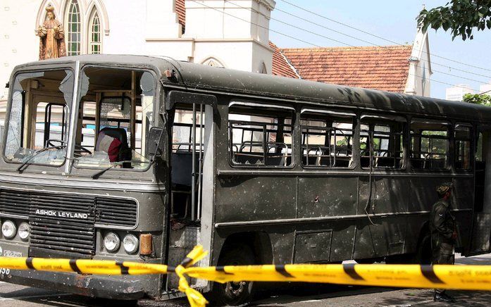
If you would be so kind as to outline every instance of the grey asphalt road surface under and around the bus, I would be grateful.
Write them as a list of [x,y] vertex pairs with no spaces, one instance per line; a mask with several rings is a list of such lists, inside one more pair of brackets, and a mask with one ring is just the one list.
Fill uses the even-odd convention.
[[[491,254],[470,258],[456,258],[458,264],[491,265]],[[452,306],[490,306],[491,292],[449,292],[456,298]],[[433,301],[428,289],[389,289],[375,287],[346,287],[328,284],[289,284],[275,289],[267,299],[251,303],[251,306],[446,306]],[[187,306],[185,299],[171,301],[142,300],[123,303],[105,299],[64,294],[45,289],[23,287],[0,282],[0,306],[14,307],[68,307],[68,306],[123,306],[167,307]]]

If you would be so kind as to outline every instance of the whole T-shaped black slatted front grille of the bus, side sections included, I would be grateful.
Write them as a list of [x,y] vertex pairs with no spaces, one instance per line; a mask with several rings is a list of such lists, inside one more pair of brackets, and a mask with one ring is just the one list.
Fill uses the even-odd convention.
[[[138,203],[84,194],[0,189],[0,215],[29,219],[30,256],[92,256],[96,227],[134,229]],[[54,251],[51,253],[49,251]]]

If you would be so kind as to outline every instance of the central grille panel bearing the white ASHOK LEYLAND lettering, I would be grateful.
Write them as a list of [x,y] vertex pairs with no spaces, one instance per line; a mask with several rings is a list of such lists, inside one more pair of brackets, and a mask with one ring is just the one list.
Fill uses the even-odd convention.
[[94,255],[94,197],[36,193],[31,200],[30,256],[42,256],[40,249]]

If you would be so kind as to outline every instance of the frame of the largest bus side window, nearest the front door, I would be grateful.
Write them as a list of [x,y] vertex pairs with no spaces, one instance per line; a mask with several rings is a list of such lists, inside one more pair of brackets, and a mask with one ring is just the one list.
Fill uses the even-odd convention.
[[[278,109],[282,111],[289,111],[292,113],[292,123],[290,124],[292,127],[292,150],[291,150],[291,157],[292,157],[292,163],[290,165],[264,165],[264,164],[236,164],[233,162],[233,153],[232,151],[233,148],[233,137],[232,137],[232,129],[230,127],[230,107],[232,106],[245,106],[245,107],[256,107],[256,108],[273,108],[273,109]],[[260,116],[260,115],[259,115]],[[243,100],[243,99],[233,99],[230,101],[230,103],[227,106],[227,137],[228,137],[228,142],[227,142],[227,151],[228,151],[228,165],[230,165],[231,168],[251,168],[251,169],[267,169],[267,170],[292,170],[296,168],[297,166],[297,135],[296,135],[296,127],[297,127],[297,110],[293,106],[287,106],[285,104],[261,104],[258,102],[254,101],[249,101],[249,100]],[[234,121],[234,120],[232,120]],[[256,122],[251,122],[251,123],[256,123]],[[278,124],[277,124],[278,125]],[[287,149],[288,151],[288,149]]]

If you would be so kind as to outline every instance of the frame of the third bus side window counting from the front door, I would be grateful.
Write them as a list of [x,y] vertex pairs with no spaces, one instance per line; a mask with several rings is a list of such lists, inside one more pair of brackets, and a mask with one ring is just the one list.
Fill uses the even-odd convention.
[[[372,166],[368,165],[368,168],[366,167],[361,167],[361,125],[365,125],[362,123],[362,120],[383,120],[382,123],[379,123],[380,125],[385,125],[386,122],[397,122],[397,123],[402,123],[402,167],[401,168],[391,168],[391,167],[385,167],[385,166]],[[359,115],[359,120],[358,120],[358,148],[356,151],[358,152],[358,163],[360,165],[360,170],[363,171],[390,171],[390,172],[405,172],[408,169],[408,156],[409,156],[409,147],[408,144],[410,145],[410,142],[408,143],[408,137],[407,134],[410,129],[409,125],[409,120],[401,115],[389,115],[389,114],[373,114],[373,113],[361,113]],[[371,155],[372,153],[370,153]],[[370,156],[368,156],[370,157]]]

